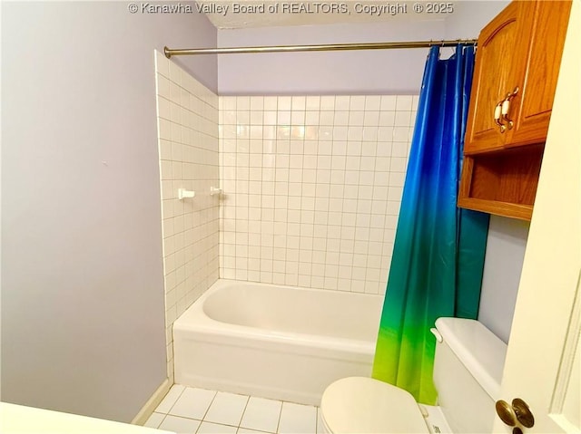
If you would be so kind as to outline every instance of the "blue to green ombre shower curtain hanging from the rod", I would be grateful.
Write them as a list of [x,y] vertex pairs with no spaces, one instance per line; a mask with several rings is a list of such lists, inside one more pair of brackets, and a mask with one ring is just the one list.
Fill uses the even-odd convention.
[[434,404],[440,316],[476,318],[488,215],[456,206],[474,47],[431,47],[419,95],[372,377]]

